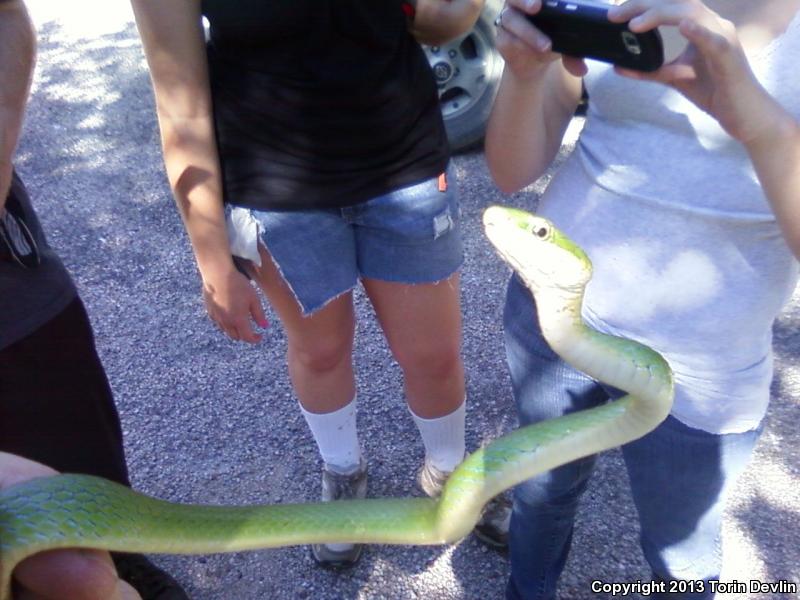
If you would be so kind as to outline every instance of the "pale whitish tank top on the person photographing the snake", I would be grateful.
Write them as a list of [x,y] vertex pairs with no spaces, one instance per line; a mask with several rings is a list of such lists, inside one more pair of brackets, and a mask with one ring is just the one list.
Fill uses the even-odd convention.
[[[749,58],[800,120],[800,13]],[[589,64],[586,126],[539,205],[594,264],[584,317],[667,358],[682,422],[752,429],[797,261],[741,144],[678,92]]]

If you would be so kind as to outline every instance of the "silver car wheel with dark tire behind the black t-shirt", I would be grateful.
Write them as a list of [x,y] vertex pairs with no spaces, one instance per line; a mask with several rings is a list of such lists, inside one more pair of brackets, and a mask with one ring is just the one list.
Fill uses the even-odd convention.
[[494,19],[501,7],[502,0],[487,2],[469,33],[442,46],[425,46],[447,137],[456,152],[476,145],[486,131],[503,72],[503,59],[494,46]]

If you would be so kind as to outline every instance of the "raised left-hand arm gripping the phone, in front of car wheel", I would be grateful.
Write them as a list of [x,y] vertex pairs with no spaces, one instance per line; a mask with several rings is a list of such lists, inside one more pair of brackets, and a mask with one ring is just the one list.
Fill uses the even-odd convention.
[[550,51],[549,38],[525,18],[541,9],[508,0],[497,32],[506,64],[486,130],[486,161],[498,187],[511,193],[550,166],[581,97],[585,65]]

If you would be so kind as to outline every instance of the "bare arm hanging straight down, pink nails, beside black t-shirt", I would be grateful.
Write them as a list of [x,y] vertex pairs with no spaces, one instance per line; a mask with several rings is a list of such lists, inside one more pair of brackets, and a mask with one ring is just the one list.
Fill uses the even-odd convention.
[[209,316],[232,338],[261,339],[258,294],[231,258],[199,0],[132,0],[150,66],[164,163],[192,243]]

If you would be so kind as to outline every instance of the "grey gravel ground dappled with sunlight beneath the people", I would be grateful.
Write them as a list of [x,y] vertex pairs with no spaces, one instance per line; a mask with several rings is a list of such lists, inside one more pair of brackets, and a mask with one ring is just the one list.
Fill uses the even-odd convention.
[[[176,502],[316,497],[320,464],[290,390],[281,327],[273,325],[250,347],[227,341],[204,316],[127,4],[29,5],[40,32],[39,64],[18,168],[89,308],[135,486]],[[467,240],[468,445],[475,448],[515,426],[500,335],[508,272],[482,235],[480,214],[498,202],[530,207],[544,182],[504,197],[482,154],[455,164]],[[795,297],[776,326],[775,398],[728,511],[726,579],[800,582],[799,305]],[[359,425],[371,494],[413,494],[422,446],[398,368],[361,294],[357,309]],[[594,579],[647,577],[633,513],[620,455],[608,452],[586,494],[563,598],[604,597],[591,593]],[[494,599],[502,597],[508,575],[507,559],[472,537],[448,547],[370,547],[355,569],[341,574],[316,568],[297,547],[156,560],[196,600]]]

